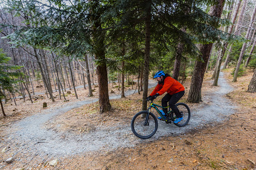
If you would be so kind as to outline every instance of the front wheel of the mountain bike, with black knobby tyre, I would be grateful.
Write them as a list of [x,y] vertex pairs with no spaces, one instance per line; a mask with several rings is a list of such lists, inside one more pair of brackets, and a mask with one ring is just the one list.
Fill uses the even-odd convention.
[[147,120],[147,114],[147,111],[138,112],[131,120],[131,130],[141,139],[151,138],[158,130],[158,120],[155,115],[150,112]]

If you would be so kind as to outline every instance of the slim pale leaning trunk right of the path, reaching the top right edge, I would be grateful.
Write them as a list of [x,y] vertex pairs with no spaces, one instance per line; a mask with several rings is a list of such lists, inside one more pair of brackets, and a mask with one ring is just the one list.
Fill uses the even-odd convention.
[[[246,2],[246,0],[245,0],[245,2]],[[249,27],[247,29],[247,32],[246,32],[246,37],[245,37],[246,39],[249,39],[250,30],[251,30],[252,25],[254,23],[255,12],[256,12],[256,4],[254,6],[253,15],[251,15],[250,25],[249,25]],[[240,56],[238,58],[237,67],[236,67],[236,71],[234,72],[234,77],[233,77],[232,82],[237,82],[238,71],[240,69],[240,65],[241,65],[241,62],[242,62],[243,54],[245,53],[245,50],[246,50],[246,46],[247,46],[247,42],[243,42],[243,47],[241,49],[241,53],[240,53]]]

